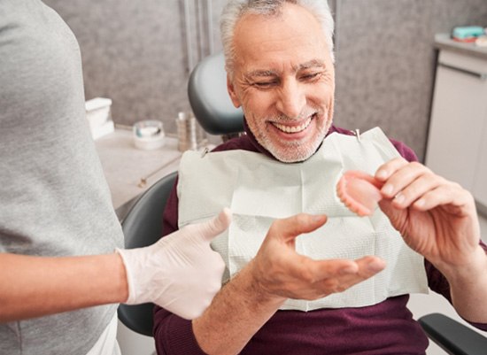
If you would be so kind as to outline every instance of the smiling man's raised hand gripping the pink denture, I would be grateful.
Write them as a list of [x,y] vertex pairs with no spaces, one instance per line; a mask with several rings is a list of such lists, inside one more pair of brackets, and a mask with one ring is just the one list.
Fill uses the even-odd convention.
[[482,256],[472,195],[420,163],[395,158],[379,167],[379,203],[406,243],[440,268],[466,266]]

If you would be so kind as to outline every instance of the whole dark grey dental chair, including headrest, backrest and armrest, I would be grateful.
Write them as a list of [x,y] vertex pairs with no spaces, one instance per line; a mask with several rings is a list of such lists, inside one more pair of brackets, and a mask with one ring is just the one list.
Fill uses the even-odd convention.
[[[243,132],[243,112],[231,103],[222,54],[203,59],[190,74],[189,103],[196,119],[213,135]],[[147,189],[131,207],[122,228],[126,248],[138,248],[158,241],[162,235],[162,214],[177,173],[162,178]],[[135,332],[152,336],[152,304],[120,305],[119,319]],[[487,338],[443,314],[421,317],[429,338],[450,355],[486,355]]]

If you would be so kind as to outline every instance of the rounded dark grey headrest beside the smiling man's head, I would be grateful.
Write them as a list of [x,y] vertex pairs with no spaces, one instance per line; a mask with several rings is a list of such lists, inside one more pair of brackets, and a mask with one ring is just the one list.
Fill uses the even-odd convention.
[[189,104],[201,127],[212,135],[243,132],[243,112],[228,96],[227,73],[222,53],[204,58],[188,82]]

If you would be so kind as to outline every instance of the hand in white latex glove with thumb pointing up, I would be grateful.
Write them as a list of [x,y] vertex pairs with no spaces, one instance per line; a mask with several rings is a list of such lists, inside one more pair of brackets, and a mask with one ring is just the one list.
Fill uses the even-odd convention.
[[128,305],[152,302],[185,319],[197,318],[220,290],[225,263],[210,242],[231,212],[186,226],[145,248],[117,249],[126,268]]

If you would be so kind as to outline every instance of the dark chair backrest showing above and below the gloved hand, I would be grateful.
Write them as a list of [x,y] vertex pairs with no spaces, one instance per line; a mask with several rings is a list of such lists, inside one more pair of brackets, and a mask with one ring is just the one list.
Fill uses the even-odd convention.
[[[173,189],[177,173],[168,174],[137,199],[122,220],[127,249],[140,248],[156,243],[162,235],[162,213],[167,197]],[[119,320],[128,328],[144,336],[152,336],[153,304],[120,305]]]

